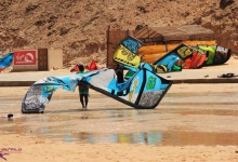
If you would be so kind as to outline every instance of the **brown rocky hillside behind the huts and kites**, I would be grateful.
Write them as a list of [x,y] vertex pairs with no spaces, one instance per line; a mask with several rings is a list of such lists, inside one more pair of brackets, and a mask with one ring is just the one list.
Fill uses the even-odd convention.
[[106,57],[106,30],[197,24],[238,54],[238,1],[223,0],[1,0],[0,52],[62,48],[64,63]]

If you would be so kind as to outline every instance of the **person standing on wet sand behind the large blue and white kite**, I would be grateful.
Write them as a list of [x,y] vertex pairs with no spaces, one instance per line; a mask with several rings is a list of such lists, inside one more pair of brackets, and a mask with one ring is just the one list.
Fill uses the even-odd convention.
[[[79,68],[79,70],[77,73],[88,72],[88,70],[84,68],[82,63],[78,64],[78,68]],[[82,109],[87,109],[88,103],[89,103],[89,85],[83,82],[79,82],[78,87],[79,87],[79,98],[80,98],[80,103],[82,105]]]

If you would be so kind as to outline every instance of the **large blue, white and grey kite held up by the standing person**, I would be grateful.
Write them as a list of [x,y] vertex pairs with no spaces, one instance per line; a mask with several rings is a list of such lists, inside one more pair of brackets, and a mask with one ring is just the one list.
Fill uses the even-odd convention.
[[123,83],[118,83],[115,70],[108,68],[65,77],[48,77],[29,87],[22,102],[22,112],[43,112],[57,89],[74,92],[79,82],[137,109],[154,109],[172,85],[172,81],[146,68],[141,68]]

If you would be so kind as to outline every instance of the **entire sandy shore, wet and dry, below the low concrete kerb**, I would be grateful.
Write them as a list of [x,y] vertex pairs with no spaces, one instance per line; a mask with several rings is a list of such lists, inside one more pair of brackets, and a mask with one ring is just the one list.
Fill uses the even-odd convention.
[[236,162],[237,87],[174,84],[153,110],[135,110],[90,91],[87,111],[77,92],[57,90],[40,114],[21,113],[28,87],[0,87],[0,151],[18,162]]

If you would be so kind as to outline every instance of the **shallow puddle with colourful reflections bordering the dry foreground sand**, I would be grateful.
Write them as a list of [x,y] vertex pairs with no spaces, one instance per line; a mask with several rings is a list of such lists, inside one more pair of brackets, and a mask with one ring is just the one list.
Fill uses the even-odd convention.
[[[19,122],[19,121],[18,121]],[[65,143],[89,143],[89,144],[145,144],[163,146],[186,146],[186,145],[238,145],[237,133],[215,132],[136,132],[136,133],[89,133],[61,129],[61,126],[42,126],[29,130],[27,125],[6,126],[5,133],[30,135],[38,138],[52,139]]]

